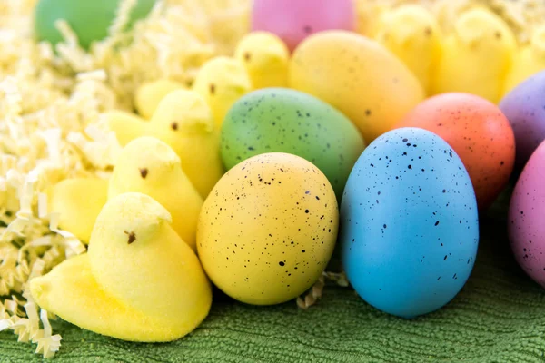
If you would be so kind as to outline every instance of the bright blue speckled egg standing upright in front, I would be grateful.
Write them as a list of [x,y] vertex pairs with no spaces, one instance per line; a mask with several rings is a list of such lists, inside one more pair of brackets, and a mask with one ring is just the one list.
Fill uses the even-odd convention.
[[447,142],[418,128],[384,133],[362,153],[344,190],[341,223],[353,288],[403,318],[453,299],[479,244],[468,172]]

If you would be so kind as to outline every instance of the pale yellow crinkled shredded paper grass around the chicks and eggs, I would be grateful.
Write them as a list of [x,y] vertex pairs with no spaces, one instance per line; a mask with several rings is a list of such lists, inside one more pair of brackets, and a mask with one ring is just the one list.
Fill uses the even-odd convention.
[[[360,30],[372,27],[377,13],[400,3],[407,1],[359,0]],[[420,3],[431,8],[446,30],[462,10],[490,6],[521,43],[545,18],[545,5],[539,1]],[[86,53],[64,21],[56,25],[64,43],[54,49],[35,42],[35,0],[0,2],[0,331],[13,330],[19,342],[34,343],[36,353],[45,358],[54,356],[62,338],[49,323],[54,317],[38,309],[26,283],[85,251],[70,231],[59,230],[59,215],[47,206],[48,188],[66,178],[108,177],[121,147],[107,129],[103,113],[133,110],[134,91],[142,83],[160,78],[192,83],[206,60],[232,54],[249,29],[249,0],[159,1],[146,19],[128,31],[134,4],[135,0],[121,2],[109,36]],[[342,276],[325,277],[346,285]],[[322,296],[322,288],[320,280],[306,298],[298,299],[298,305],[308,308]],[[347,293],[352,291],[341,295]],[[313,324],[320,324],[319,312],[314,315]],[[337,333],[332,329],[332,335]],[[247,338],[252,332],[237,330],[237,334]],[[74,340],[70,344],[74,348]],[[316,352],[320,347],[312,349]],[[224,357],[237,358],[229,354]],[[351,354],[342,352],[344,358]],[[262,358],[272,357],[276,356]],[[0,361],[5,361],[2,353]]]

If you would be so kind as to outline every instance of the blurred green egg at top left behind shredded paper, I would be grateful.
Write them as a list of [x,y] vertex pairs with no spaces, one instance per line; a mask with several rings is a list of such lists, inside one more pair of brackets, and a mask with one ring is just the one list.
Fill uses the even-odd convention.
[[[39,0],[35,7],[35,34],[38,41],[57,44],[63,40],[54,23],[64,19],[77,34],[80,45],[89,49],[94,41],[104,39],[114,22],[122,0]],[[155,0],[138,0],[131,12],[132,26],[149,14]]]

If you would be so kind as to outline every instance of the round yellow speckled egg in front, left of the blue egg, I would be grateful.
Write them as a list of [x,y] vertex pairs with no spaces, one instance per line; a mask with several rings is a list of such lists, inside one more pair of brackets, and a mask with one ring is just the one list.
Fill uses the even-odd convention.
[[318,168],[292,154],[264,153],[215,185],[199,218],[197,249],[204,270],[227,295],[278,304],[321,276],[338,223],[335,193]]

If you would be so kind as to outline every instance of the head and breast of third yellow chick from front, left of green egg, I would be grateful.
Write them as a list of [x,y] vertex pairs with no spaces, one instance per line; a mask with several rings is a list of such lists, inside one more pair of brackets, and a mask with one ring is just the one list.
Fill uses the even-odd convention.
[[224,171],[219,132],[203,97],[186,90],[169,93],[159,103],[150,127],[151,135],[178,154],[183,172],[206,198]]

